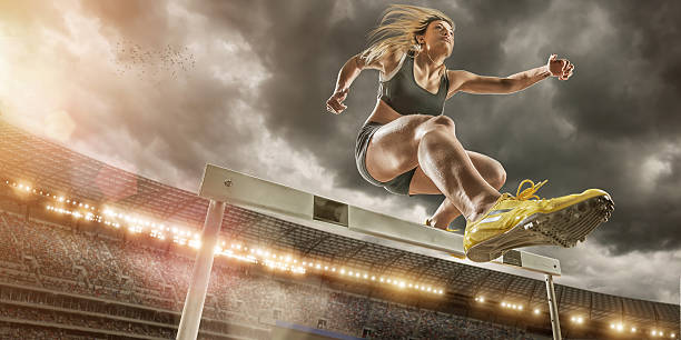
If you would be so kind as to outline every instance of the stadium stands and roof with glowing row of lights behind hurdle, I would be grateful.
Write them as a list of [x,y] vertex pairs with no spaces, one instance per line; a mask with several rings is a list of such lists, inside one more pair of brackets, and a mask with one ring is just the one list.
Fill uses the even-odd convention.
[[[177,337],[209,200],[0,120],[0,338]],[[227,203],[199,339],[551,339],[541,280]],[[560,279],[559,279],[560,281]],[[675,339],[678,304],[555,284],[566,339]]]

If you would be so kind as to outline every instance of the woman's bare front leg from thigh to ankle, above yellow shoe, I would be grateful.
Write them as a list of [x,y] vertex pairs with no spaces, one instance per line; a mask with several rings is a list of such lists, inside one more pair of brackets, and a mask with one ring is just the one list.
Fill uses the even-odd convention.
[[374,179],[385,182],[416,167],[466,219],[482,216],[501,196],[475,170],[446,116],[404,116],[372,137],[366,168]]

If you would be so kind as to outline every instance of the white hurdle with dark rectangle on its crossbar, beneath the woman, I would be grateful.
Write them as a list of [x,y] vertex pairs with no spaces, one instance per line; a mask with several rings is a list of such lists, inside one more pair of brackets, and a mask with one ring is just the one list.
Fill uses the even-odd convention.
[[[206,164],[198,196],[209,199],[177,339],[196,339],[223,222],[231,204],[316,230],[453,261],[465,259],[463,236],[401,220],[214,164]],[[492,262],[544,274],[553,338],[561,328],[553,277],[561,276],[557,259],[511,250]]]

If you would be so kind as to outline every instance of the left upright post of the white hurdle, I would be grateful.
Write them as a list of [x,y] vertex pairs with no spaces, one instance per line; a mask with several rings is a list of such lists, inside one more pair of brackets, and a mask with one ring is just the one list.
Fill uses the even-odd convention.
[[215,246],[217,244],[220,226],[223,224],[225,202],[210,200],[206,221],[204,222],[204,231],[201,232],[201,244],[196,256],[189,290],[187,290],[187,299],[185,300],[180,324],[177,329],[178,340],[194,340],[198,336],[206,293],[208,292]]

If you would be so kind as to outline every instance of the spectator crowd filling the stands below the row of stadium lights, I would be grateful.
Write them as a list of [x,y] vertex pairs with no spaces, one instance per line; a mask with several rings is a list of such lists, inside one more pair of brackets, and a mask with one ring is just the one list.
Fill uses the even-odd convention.
[[[181,252],[0,210],[0,338],[172,339],[193,263]],[[228,260],[214,264],[203,317],[203,339],[269,339],[277,319],[372,339],[543,339]]]

